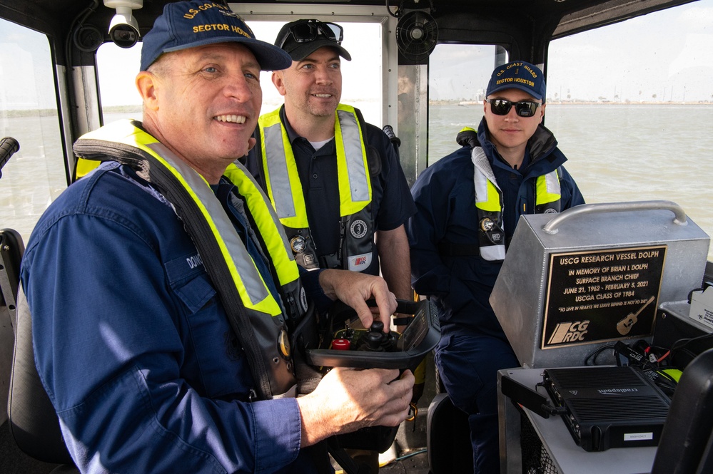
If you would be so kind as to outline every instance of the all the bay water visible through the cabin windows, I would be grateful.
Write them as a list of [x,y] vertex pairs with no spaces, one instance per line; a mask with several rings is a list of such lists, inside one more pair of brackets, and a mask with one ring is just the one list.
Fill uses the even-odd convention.
[[[138,115],[106,114],[105,122]],[[432,103],[429,163],[456,150],[458,131],[480,118],[480,104]],[[669,200],[713,235],[713,104],[548,103],[545,125],[588,203]],[[20,143],[1,170],[0,228],[28,239],[66,187],[59,125],[56,115],[0,117],[0,136]]]

